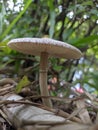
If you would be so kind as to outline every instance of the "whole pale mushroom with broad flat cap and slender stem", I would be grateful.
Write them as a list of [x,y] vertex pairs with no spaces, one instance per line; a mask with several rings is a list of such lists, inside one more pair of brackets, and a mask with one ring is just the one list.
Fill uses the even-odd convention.
[[[50,38],[17,38],[9,41],[8,46],[25,54],[40,56],[39,84],[41,96],[49,96],[47,88],[47,68],[49,56],[66,59],[79,59],[82,56],[81,51],[72,45]],[[52,103],[49,98],[43,98],[42,101],[44,105],[52,107]]]

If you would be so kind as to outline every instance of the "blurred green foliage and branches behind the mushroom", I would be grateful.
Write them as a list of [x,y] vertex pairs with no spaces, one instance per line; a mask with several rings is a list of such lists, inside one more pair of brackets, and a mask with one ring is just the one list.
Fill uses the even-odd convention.
[[82,51],[79,60],[49,58],[52,96],[98,94],[97,0],[0,0],[0,79],[26,76],[39,92],[39,57],[7,47],[9,40],[22,37],[49,37]]

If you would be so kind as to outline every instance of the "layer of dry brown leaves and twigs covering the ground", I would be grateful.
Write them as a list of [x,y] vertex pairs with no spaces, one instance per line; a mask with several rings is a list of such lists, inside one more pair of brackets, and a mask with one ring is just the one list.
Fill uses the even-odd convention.
[[[22,97],[15,93],[17,83],[5,78],[0,81],[0,130],[98,130],[98,99],[85,92],[74,98],[44,97],[32,95]],[[27,87],[30,92],[30,87]],[[59,106],[48,108],[36,99],[51,98],[62,102]],[[33,100],[32,100],[33,99]]]

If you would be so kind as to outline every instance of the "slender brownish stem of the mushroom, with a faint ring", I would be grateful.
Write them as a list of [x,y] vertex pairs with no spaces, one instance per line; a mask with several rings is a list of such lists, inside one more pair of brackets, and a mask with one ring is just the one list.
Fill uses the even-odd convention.
[[[40,59],[40,91],[41,96],[49,96],[48,85],[47,85],[47,67],[48,67],[48,53],[42,52]],[[52,108],[52,102],[49,98],[42,99],[43,104]]]

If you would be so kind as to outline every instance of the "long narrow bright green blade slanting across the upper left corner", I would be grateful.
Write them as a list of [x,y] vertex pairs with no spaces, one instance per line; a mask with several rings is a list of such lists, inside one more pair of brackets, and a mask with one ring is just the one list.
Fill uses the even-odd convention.
[[1,39],[3,39],[13,28],[13,26],[18,22],[18,20],[21,18],[21,16],[25,13],[29,5],[31,4],[32,0],[28,0],[24,9],[19,13],[19,15],[12,21],[12,23],[9,25],[9,27],[4,31],[4,33],[1,36]]

